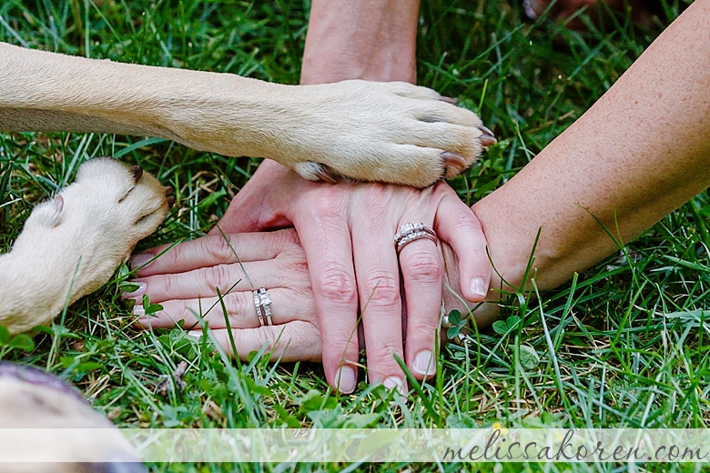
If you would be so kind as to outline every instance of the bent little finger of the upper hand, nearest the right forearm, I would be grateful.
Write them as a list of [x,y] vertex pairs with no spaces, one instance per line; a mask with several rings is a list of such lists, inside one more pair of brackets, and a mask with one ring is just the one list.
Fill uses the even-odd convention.
[[441,199],[434,229],[459,257],[462,297],[481,302],[488,296],[492,265],[486,252],[486,238],[478,219],[451,190]]

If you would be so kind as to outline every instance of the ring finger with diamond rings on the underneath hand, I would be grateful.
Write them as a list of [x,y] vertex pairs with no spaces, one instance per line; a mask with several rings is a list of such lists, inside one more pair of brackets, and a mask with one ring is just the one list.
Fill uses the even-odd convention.
[[[285,288],[269,289],[270,324],[284,325],[288,322],[312,321],[314,314],[310,295]],[[152,301],[151,301],[152,302]],[[147,328],[172,328],[178,322],[187,330],[208,324],[210,328],[255,328],[269,326],[269,318],[259,322],[253,291],[234,291],[221,297],[167,300],[160,303],[162,310],[145,316],[142,306],[133,307],[137,324]],[[225,311],[227,317],[225,317]]]

